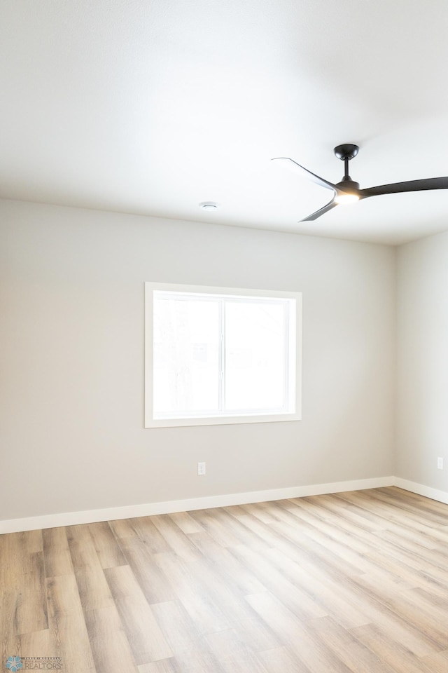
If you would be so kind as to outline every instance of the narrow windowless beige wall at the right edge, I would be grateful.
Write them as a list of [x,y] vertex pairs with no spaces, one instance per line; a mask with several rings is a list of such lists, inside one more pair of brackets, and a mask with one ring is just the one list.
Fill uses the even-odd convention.
[[448,233],[402,245],[397,261],[395,474],[448,492]]

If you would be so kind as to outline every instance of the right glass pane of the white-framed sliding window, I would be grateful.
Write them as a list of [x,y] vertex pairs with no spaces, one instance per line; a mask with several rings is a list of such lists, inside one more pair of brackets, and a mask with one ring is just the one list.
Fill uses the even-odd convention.
[[285,304],[226,301],[225,408],[285,405]]

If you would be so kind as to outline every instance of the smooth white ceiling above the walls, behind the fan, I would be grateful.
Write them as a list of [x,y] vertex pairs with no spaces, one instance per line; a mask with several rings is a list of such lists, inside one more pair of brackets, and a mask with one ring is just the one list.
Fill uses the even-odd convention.
[[354,142],[361,187],[448,175],[447,36],[447,0],[0,0],[0,196],[392,244],[444,231],[448,189],[299,224],[330,192],[269,160],[338,182],[333,147]]

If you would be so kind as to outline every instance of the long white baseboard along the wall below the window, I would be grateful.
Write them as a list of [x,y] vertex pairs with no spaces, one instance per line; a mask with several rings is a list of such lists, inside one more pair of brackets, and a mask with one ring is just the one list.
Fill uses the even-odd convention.
[[[48,514],[40,517],[0,521],[0,534],[35,531],[44,528],[57,528],[58,526],[74,526],[76,524],[92,524],[99,521],[113,521],[114,519],[148,517],[154,514],[172,514],[173,512],[206,510],[214,507],[226,507],[229,505],[264,503],[272,500],[286,500],[286,498],[318,496],[325,493],[378,489],[380,487],[393,486],[394,484],[395,477],[374,477],[372,479],[360,479],[349,482],[333,482],[332,484],[313,484],[311,486],[271,489],[268,491],[249,491],[248,493],[206,496],[203,498],[190,498],[188,500],[174,500],[162,503],[125,505],[123,507],[111,507],[102,510]],[[412,489],[407,490],[410,491]]]

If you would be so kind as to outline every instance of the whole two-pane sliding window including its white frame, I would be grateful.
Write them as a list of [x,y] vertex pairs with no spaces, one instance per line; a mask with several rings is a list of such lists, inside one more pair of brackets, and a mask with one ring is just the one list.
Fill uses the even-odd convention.
[[146,427],[299,420],[301,298],[146,283]]

